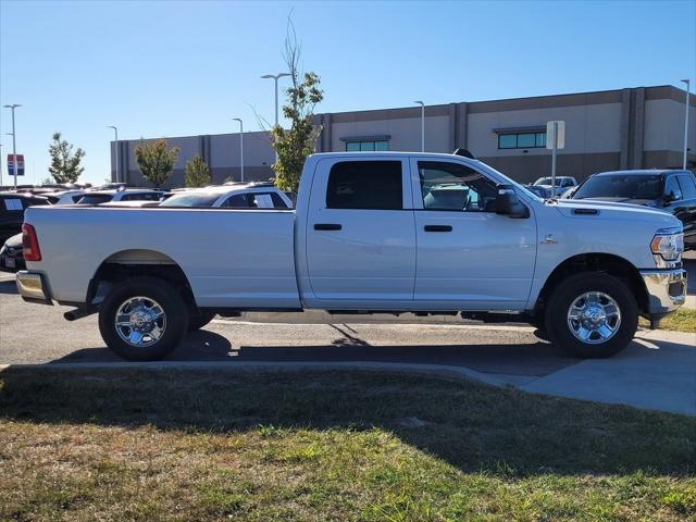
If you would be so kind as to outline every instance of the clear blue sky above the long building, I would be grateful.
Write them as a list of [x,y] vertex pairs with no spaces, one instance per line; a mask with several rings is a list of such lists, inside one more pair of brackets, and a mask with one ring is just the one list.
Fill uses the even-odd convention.
[[[109,172],[109,140],[258,129],[273,119],[287,16],[319,112],[475,101],[696,77],[696,1],[208,2],[0,0],[0,101],[27,182],[54,130]],[[692,84],[694,85],[694,84]],[[692,89],[693,90],[693,89]],[[10,114],[1,112],[3,181]]]

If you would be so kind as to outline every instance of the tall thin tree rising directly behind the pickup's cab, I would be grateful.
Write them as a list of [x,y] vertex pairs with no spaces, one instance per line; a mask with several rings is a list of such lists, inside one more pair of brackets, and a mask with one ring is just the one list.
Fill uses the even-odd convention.
[[275,185],[281,190],[297,191],[304,160],[314,152],[321,126],[313,126],[314,107],[324,99],[319,88],[319,76],[313,73],[300,73],[301,47],[297,41],[293,21],[288,20],[283,59],[293,78],[293,86],[286,90],[287,101],[283,105],[283,115],[291,122],[284,130],[279,125],[271,129],[271,142],[278,154],[273,164]]

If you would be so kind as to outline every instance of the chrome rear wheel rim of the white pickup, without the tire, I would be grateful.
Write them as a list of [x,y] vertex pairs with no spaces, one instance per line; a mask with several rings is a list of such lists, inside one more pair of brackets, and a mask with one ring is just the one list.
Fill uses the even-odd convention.
[[114,325],[119,337],[137,348],[154,345],[166,330],[166,314],[149,297],[130,297],[116,310]]

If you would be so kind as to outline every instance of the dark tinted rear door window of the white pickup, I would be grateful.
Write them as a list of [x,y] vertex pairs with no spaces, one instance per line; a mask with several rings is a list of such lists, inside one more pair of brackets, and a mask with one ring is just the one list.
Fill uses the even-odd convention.
[[332,166],[327,209],[401,210],[400,161],[341,161]]

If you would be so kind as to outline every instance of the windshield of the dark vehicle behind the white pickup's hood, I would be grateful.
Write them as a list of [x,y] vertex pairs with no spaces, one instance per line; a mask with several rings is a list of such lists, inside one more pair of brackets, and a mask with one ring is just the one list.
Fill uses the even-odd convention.
[[573,199],[622,198],[658,199],[662,195],[662,178],[656,175],[604,175],[587,179]]

